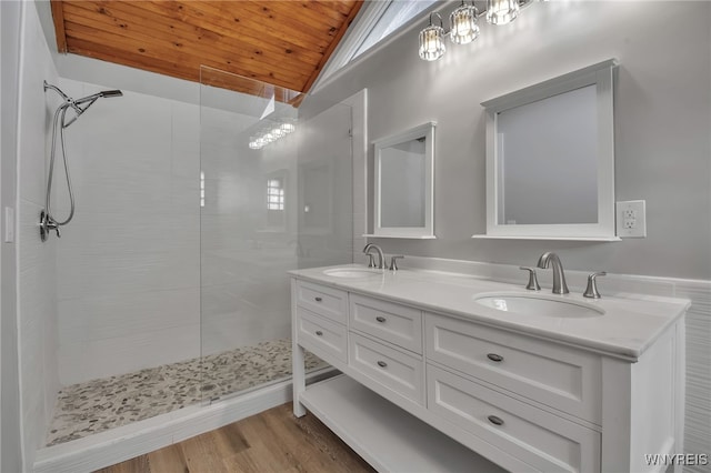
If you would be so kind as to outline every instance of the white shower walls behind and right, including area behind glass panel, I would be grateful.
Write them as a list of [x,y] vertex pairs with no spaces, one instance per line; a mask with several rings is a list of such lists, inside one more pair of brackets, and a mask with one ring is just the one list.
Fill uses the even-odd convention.
[[[116,87],[60,84],[71,97]],[[260,117],[227,105],[244,97],[209,93],[214,107],[124,90],[67,129],[78,208],[57,254],[62,385],[288,338],[286,271],[350,262],[350,108],[254,152],[237,130]],[[284,228],[267,222],[273,175],[287,178]],[[67,195],[56,201],[64,214]]]

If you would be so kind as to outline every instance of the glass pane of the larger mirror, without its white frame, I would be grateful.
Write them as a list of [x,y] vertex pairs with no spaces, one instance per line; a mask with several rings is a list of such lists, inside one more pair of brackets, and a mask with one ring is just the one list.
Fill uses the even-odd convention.
[[598,222],[595,100],[588,85],[499,113],[499,224]]

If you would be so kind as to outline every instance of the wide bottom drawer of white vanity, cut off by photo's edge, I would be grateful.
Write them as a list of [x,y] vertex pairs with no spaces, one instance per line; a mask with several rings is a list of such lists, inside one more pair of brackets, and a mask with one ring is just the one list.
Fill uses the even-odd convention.
[[535,471],[599,472],[601,434],[428,364],[428,410]]

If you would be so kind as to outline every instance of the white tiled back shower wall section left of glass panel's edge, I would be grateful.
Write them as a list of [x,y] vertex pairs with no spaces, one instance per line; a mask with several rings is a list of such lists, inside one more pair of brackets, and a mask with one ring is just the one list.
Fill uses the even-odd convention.
[[[114,88],[62,84],[73,97]],[[123,90],[67,129],[77,214],[57,255],[62,383],[199,354],[199,111]]]

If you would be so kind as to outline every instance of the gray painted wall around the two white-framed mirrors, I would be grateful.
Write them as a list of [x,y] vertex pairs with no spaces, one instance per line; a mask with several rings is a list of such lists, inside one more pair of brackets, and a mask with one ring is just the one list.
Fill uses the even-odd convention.
[[[423,22],[352,64],[317,95],[342,100],[368,88],[370,140],[438,122],[437,240],[377,240],[387,252],[531,264],[554,250],[570,269],[710,279],[710,24],[709,2],[537,2],[509,27],[483,24],[473,44],[448,43],[444,58],[429,63],[417,54]],[[621,64],[617,200],[647,200],[648,238],[470,239],[485,232],[480,102],[610,58]],[[370,163],[372,152],[371,145]]]

